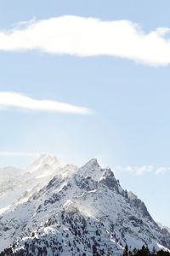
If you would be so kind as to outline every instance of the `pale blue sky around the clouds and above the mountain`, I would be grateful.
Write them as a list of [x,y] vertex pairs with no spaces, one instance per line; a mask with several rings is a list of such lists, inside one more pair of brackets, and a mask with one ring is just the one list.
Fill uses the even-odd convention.
[[[11,32],[21,21],[77,15],[130,20],[149,33],[170,27],[169,8],[168,1],[6,0],[0,1],[0,32]],[[12,38],[8,41],[13,44]],[[101,165],[115,167],[123,187],[139,195],[156,220],[170,226],[168,55],[163,60],[157,55],[153,64],[144,49],[143,61],[143,55],[82,57],[5,46],[0,38],[0,92],[65,102],[94,113],[0,108],[0,166],[26,166],[41,153],[77,165],[96,157]]]

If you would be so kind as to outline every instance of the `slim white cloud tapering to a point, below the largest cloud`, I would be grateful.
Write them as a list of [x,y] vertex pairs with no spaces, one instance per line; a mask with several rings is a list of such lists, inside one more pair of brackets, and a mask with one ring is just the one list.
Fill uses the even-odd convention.
[[50,111],[58,113],[93,113],[89,108],[82,108],[64,102],[50,100],[36,100],[15,92],[0,92],[0,110],[6,108],[22,108],[36,111]]

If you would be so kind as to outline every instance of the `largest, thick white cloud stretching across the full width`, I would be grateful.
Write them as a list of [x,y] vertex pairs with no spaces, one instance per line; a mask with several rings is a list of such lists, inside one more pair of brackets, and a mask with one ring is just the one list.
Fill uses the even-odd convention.
[[78,16],[20,23],[0,31],[0,50],[40,50],[77,56],[111,55],[152,66],[170,64],[168,27],[144,32],[129,20],[104,21]]

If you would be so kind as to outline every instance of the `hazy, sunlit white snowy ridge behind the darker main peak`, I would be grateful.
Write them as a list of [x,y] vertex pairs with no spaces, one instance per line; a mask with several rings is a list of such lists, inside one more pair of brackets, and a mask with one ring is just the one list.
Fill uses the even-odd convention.
[[26,201],[54,177],[60,168],[55,156],[42,154],[25,170],[14,167],[0,169],[0,212],[17,201]]

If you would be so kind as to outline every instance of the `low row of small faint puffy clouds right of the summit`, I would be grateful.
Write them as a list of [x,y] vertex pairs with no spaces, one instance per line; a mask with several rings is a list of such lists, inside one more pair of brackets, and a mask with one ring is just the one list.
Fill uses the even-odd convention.
[[163,174],[166,172],[170,173],[170,168],[168,167],[154,167],[154,166],[116,166],[115,167],[116,172],[124,172],[129,173],[137,176],[141,176],[144,174],[152,173],[154,175]]

